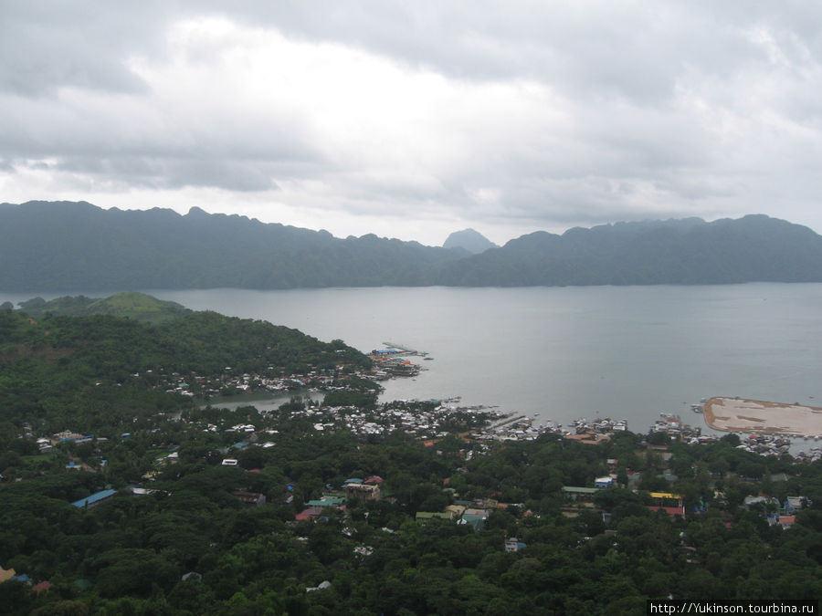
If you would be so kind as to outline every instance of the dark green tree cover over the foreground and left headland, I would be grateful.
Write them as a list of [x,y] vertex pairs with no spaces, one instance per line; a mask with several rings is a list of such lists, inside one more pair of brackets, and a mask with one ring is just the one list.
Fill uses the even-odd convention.
[[[0,583],[0,605],[20,614],[635,614],[647,598],[822,596],[819,462],[761,458],[735,448],[733,435],[662,439],[668,460],[634,433],[597,445],[554,434],[488,445],[453,433],[426,446],[401,432],[358,437],[342,423],[317,431],[299,398],[264,414],[202,408],[158,387],[173,372],[208,380],[231,376],[228,367],[279,376],[343,365],[355,371],[368,359],[342,341],[210,312],[151,325],[0,311],[0,472],[10,479],[0,485],[0,567],[51,584],[37,593]],[[206,429],[234,423],[274,446],[237,448],[239,434]],[[38,436],[65,429],[93,438],[38,452]],[[236,466],[221,464],[227,455]],[[562,486],[593,485],[608,460],[618,477],[641,474],[637,490],[569,506]],[[371,475],[383,480],[379,499],[295,519],[309,500]],[[151,492],[132,495],[135,481]],[[648,508],[663,485],[685,496],[684,518]],[[71,505],[110,486],[116,495],[98,506]],[[266,504],[247,506],[237,491]],[[744,506],[760,494],[777,505]],[[810,506],[788,530],[769,525],[769,508],[792,495]],[[478,527],[416,521],[455,503],[490,515]],[[509,538],[524,546],[507,551]]]

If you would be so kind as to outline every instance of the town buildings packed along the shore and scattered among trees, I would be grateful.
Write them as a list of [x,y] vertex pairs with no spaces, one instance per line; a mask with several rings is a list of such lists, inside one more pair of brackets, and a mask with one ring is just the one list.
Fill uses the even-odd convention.
[[[257,375],[239,375],[231,377],[227,381],[222,381],[222,385],[234,385],[237,389],[250,389],[252,386],[269,389],[269,387],[294,387],[304,386],[307,382],[327,387],[334,392],[346,391],[344,386],[329,385],[332,379],[323,380],[323,377],[308,375],[305,380],[302,375],[291,375],[286,379],[274,383],[260,379]],[[364,376],[364,375],[358,375]],[[192,379],[201,382],[197,377]],[[253,385],[252,385],[253,384]],[[269,390],[271,391],[271,390]],[[279,391],[279,390],[273,390]],[[373,409],[364,409],[356,405],[328,406],[321,402],[313,402],[308,398],[293,399],[294,403],[284,405],[288,409],[280,409],[274,412],[257,412],[253,405],[247,408],[253,419],[248,423],[234,423],[235,412],[219,410],[219,402],[210,400],[205,407],[207,411],[183,412],[179,416],[170,418],[174,423],[184,425],[184,432],[210,433],[216,437],[216,442],[224,445],[216,447],[214,454],[222,456],[221,465],[237,466],[237,454],[248,448],[261,448],[263,450],[277,447],[280,438],[283,436],[278,427],[282,425],[302,425],[307,433],[335,433],[345,431],[353,433],[361,440],[368,442],[372,438],[381,438],[393,433],[402,433],[412,437],[426,447],[437,449],[437,442],[448,436],[456,436],[462,440],[466,446],[460,453],[468,462],[475,455],[487,454],[491,451],[492,443],[505,444],[507,442],[527,442],[534,441],[541,434],[554,434],[565,440],[579,444],[602,444],[609,441],[615,433],[626,433],[627,422],[625,420],[612,421],[608,418],[597,418],[592,421],[580,419],[574,421],[568,428],[563,428],[555,423],[545,426],[535,426],[534,419],[522,414],[504,413],[496,409],[482,406],[459,406],[459,398],[449,398],[440,401],[394,401],[386,402]],[[216,403],[212,407],[211,404]],[[284,408],[284,407],[283,407]],[[248,416],[248,415],[247,415]],[[162,422],[167,417],[159,416],[157,426],[151,428],[151,433],[160,438],[163,436],[161,429]],[[27,433],[34,438],[32,433]],[[679,416],[663,413],[648,431],[649,435],[663,434],[672,442],[686,444],[711,444],[717,441],[714,436],[702,436],[700,429],[693,428],[682,423]],[[132,433],[121,433],[121,441],[132,437]],[[287,438],[292,438],[289,434]],[[238,440],[237,440],[238,439]],[[91,434],[73,433],[64,431],[55,433],[50,438],[39,437],[37,447],[41,454],[46,454],[59,449],[61,445],[70,444],[72,449],[80,444],[96,445],[95,451],[100,451],[100,445],[106,446],[109,438],[105,436],[94,436]],[[750,435],[745,438],[739,449],[744,451],[773,456],[787,454],[786,444],[782,439],[775,437],[763,437]],[[651,450],[661,455],[663,459],[669,459],[667,446],[648,444]],[[153,482],[160,475],[164,466],[174,465],[179,462],[179,444],[157,442],[152,444],[153,450],[162,454],[157,455],[154,468],[142,475],[144,482]],[[818,448],[812,450],[811,454],[802,454],[797,457],[799,461],[812,462],[819,457]],[[99,472],[104,469],[106,460],[95,456],[91,460],[81,460],[74,455],[68,455],[67,469],[76,471]],[[610,473],[595,478],[593,485],[589,486],[563,486],[563,494],[568,501],[564,506],[564,515],[574,517],[581,510],[595,510],[598,513],[607,515],[604,509],[594,506],[594,497],[601,489],[619,485],[617,481],[617,460],[608,459],[606,461]],[[669,471],[659,475],[670,485],[677,480],[677,476]],[[636,491],[641,474],[632,470],[627,471],[627,487]],[[758,478],[740,477],[743,481],[757,482]],[[773,476],[773,481],[785,481],[787,476]],[[333,507],[344,512],[348,502],[364,502],[369,500],[379,500],[381,498],[380,485],[383,479],[379,476],[371,476],[365,479],[350,478],[339,488],[323,492],[319,499],[309,500],[305,503],[305,508],[297,514],[296,520],[313,519],[322,517],[327,511],[327,507]],[[153,493],[152,490],[138,483],[131,485],[132,494],[144,495]],[[329,488],[332,486],[329,485]],[[448,487],[445,488],[448,491]],[[453,492],[453,490],[451,491]],[[96,506],[98,503],[114,496],[116,490],[107,489],[87,498],[80,499],[73,503],[76,506]],[[242,490],[235,491],[235,496],[247,504],[255,506],[264,505],[266,496],[257,493],[249,493]],[[507,508],[509,506],[522,507],[522,504],[506,504],[500,501],[485,497],[479,500],[462,501],[454,496],[454,502],[442,511],[416,513],[417,520],[427,520],[433,517],[454,519],[460,523],[470,523],[477,529],[481,529],[484,520],[490,516],[494,509]],[[721,497],[720,494],[717,494]],[[654,500],[649,504],[653,510],[663,510],[669,515],[686,516],[686,509],[683,504],[683,496],[671,492],[651,492],[650,497]],[[288,499],[288,496],[286,496]],[[769,511],[774,514],[768,517],[769,523],[780,523],[783,527],[789,527],[793,518],[791,514],[796,508],[807,506],[808,500],[805,496],[792,496],[790,506],[776,502],[770,496],[751,496],[746,498],[745,505],[769,505]],[[287,502],[291,502],[288,500]],[[524,515],[533,515],[530,511],[523,511]],[[779,517],[779,513],[782,517]],[[773,522],[772,520],[775,520]]]

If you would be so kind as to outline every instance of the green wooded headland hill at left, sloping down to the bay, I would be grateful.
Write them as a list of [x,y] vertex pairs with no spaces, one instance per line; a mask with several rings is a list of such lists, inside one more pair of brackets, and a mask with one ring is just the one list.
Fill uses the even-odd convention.
[[[216,312],[190,311],[152,325],[109,315],[36,319],[0,310],[0,424],[45,421],[56,432],[68,413],[79,429],[102,424],[111,430],[130,423],[135,407],[179,403],[167,399],[167,391],[187,396],[249,375],[320,378],[341,366],[370,365],[342,340],[321,342],[297,329]],[[123,402],[112,391],[128,395]]]

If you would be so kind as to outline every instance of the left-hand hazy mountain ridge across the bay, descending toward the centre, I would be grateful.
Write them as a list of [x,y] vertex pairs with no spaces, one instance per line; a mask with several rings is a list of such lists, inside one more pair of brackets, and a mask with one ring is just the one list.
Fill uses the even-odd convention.
[[0,288],[416,286],[464,253],[375,235],[263,224],[244,216],[0,204]]

